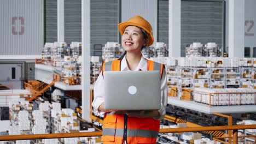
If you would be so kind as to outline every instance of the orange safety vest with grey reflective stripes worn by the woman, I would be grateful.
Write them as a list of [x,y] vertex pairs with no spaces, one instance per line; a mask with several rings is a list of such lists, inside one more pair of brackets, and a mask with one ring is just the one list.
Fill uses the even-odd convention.
[[[121,59],[102,64],[104,71],[120,71]],[[164,65],[148,60],[148,70],[162,71]],[[126,123],[126,124],[125,124]],[[103,143],[156,143],[160,121],[154,118],[129,117],[119,112],[108,112],[104,115],[102,141]]]

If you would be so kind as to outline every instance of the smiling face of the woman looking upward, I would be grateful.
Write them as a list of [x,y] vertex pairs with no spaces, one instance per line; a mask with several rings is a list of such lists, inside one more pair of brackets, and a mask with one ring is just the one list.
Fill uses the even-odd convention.
[[122,46],[127,52],[141,52],[141,47],[147,44],[141,29],[136,26],[127,26],[122,35]]

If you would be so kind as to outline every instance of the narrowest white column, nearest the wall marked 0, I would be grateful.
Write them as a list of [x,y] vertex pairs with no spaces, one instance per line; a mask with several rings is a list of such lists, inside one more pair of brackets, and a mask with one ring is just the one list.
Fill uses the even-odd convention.
[[64,35],[64,0],[57,0],[57,40],[65,42]]

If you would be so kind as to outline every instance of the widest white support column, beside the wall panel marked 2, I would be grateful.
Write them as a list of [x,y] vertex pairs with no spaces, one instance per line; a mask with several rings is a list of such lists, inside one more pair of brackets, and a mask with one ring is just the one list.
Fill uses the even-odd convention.
[[245,56],[245,0],[229,1],[229,57]]

